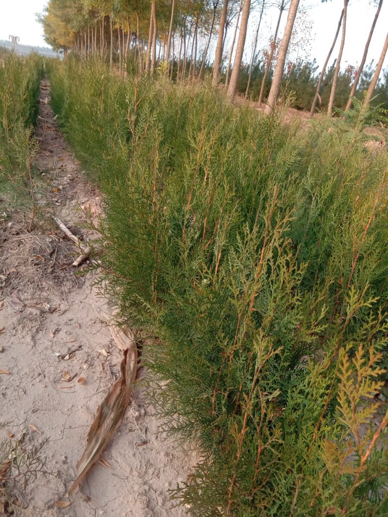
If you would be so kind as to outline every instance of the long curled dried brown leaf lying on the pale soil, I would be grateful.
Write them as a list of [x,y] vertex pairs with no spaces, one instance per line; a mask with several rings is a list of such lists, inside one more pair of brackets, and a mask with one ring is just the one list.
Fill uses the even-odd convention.
[[124,352],[121,362],[121,377],[114,383],[107,396],[98,407],[97,416],[87,434],[87,444],[82,458],[77,463],[79,475],[68,490],[72,494],[85,478],[92,466],[98,462],[112,434],[120,423],[132,393],[138,364],[135,342]]

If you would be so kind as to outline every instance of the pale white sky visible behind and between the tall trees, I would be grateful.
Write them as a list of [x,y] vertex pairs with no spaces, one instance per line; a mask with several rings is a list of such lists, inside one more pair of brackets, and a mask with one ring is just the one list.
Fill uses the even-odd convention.
[[[46,4],[47,0],[0,0],[0,39],[8,39],[8,36],[13,34],[20,37],[20,43],[46,46],[42,37],[42,27],[35,20],[35,14],[42,12]],[[308,16],[313,23],[310,57],[316,57],[318,64],[322,65],[327,51],[331,47],[343,2],[342,0],[332,0],[322,4],[320,0],[302,0],[301,7],[308,5],[312,6],[308,10]],[[374,6],[369,5],[368,0],[350,1],[348,7],[347,40],[342,57],[342,64],[344,66],[346,66],[347,62],[352,65],[360,63],[375,10]],[[278,10],[276,8],[266,11],[262,22],[263,31],[260,31],[262,34],[258,48],[261,48],[267,42],[268,37],[273,32],[277,15]],[[251,52],[251,40],[255,31],[256,19],[257,15],[253,13],[250,18],[250,28],[248,29],[245,59],[248,58]],[[283,24],[286,22],[286,19],[287,12],[283,13]],[[271,33],[267,32],[270,28]],[[380,57],[387,30],[388,0],[385,0],[369,47],[367,63],[372,58],[377,61]],[[230,29],[229,37],[232,32],[233,29]],[[280,35],[282,34],[282,29],[279,33]],[[333,58],[337,52],[338,44],[333,52]],[[388,56],[384,63],[385,67],[387,65]]]

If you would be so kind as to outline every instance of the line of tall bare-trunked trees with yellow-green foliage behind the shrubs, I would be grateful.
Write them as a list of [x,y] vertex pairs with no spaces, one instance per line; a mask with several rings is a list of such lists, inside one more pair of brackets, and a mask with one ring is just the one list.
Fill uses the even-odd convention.
[[[388,70],[382,70],[388,34],[377,62],[373,59],[366,66],[382,2],[372,0],[376,13],[360,65],[349,65],[346,70],[341,70],[341,59],[349,0],[344,0],[339,20],[333,25],[334,40],[321,70],[315,60],[306,62],[291,55],[295,33],[306,30],[295,24],[300,0],[277,1],[279,14],[273,34],[263,34],[268,0],[50,0],[38,18],[47,43],[62,50],[65,58],[69,53],[82,59],[98,55],[123,75],[130,70],[137,74],[154,73],[158,68],[176,82],[200,80],[211,74],[213,85],[223,83],[230,100],[236,92],[257,100],[259,105],[266,99],[268,113],[279,96],[292,91],[292,105],[310,110],[312,116],[322,108],[332,115],[334,105],[349,111],[353,97],[363,100],[364,105],[372,99],[388,108]],[[257,13],[256,26],[250,41],[250,57],[244,63],[248,22],[253,11]],[[286,26],[279,37],[285,13]],[[330,32],[329,27],[327,31]],[[227,48],[229,35],[231,43]],[[259,36],[269,41],[261,50],[257,49]],[[339,37],[339,52],[334,57]],[[215,51],[210,51],[214,44]]]

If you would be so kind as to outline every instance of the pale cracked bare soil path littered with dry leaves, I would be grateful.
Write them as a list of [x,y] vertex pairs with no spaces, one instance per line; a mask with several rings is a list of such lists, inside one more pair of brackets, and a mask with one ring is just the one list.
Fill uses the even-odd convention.
[[[86,221],[81,207],[97,217],[100,194],[79,171],[56,127],[49,88],[43,80],[35,133],[40,141],[36,166],[47,184],[45,203],[87,240],[94,235],[80,230]],[[93,286],[98,273],[87,265],[71,265],[79,251],[48,215],[32,233],[26,227],[21,213],[0,225],[0,422],[5,424],[0,442],[20,439],[28,451],[47,440],[41,451],[47,474],[19,493],[24,514],[186,515],[185,508],[174,507],[168,490],[187,478],[193,454],[158,436],[160,421],[140,382],[103,453],[107,463],[92,468],[70,506],[56,507],[76,478],[87,431],[120,376],[122,354],[95,311],[95,306],[107,310]],[[80,377],[86,384],[78,382]]]

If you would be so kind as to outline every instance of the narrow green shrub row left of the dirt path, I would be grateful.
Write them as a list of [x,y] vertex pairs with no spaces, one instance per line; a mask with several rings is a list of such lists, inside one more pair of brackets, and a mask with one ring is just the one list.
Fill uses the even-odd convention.
[[30,226],[36,210],[33,125],[41,74],[37,54],[22,57],[0,49],[0,193],[4,208],[32,208]]

